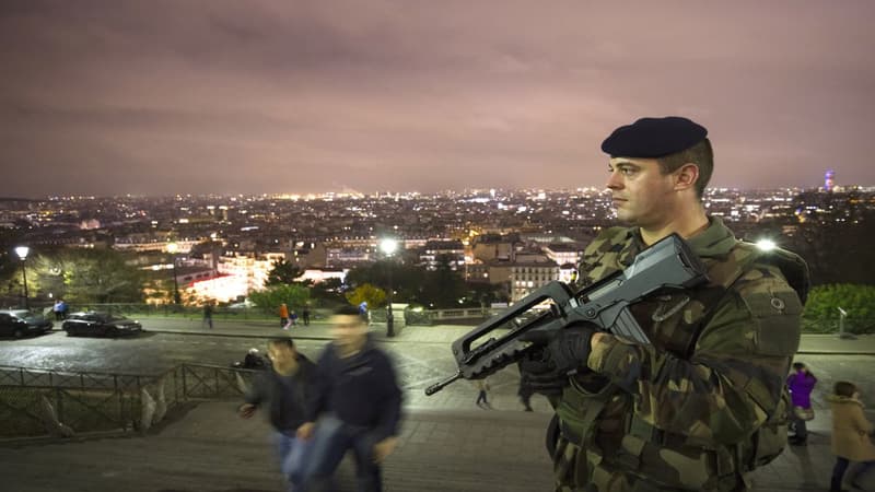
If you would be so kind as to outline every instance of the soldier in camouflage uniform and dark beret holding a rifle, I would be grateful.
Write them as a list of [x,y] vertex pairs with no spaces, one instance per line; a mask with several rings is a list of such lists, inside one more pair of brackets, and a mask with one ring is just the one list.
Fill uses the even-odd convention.
[[707,134],[687,118],[642,118],[602,143],[617,216],[631,227],[588,245],[580,284],[629,267],[672,233],[701,258],[709,282],[631,307],[652,347],[580,326],[546,345],[548,364],[521,363],[556,410],[557,491],[743,491],[786,443],[784,376],[807,267],[782,249],[759,251],[707,214]]

